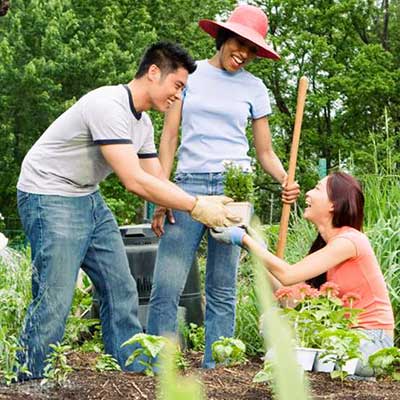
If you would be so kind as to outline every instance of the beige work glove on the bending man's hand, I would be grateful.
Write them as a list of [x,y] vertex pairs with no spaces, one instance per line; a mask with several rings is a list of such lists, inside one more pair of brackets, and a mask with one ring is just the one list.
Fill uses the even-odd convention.
[[208,227],[237,225],[241,218],[233,215],[225,204],[233,200],[226,196],[196,196],[190,215]]

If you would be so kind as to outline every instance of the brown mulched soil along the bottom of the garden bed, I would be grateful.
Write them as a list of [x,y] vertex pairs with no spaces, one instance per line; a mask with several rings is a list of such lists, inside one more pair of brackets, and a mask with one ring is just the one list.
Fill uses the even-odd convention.
[[[156,379],[144,375],[124,372],[96,372],[95,353],[72,353],[69,362],[74,368],[68,382],[59,387],[53,384],[41,385],[30,381],[0,385],[0,400],[153,400],[156,399]],[[254,359],[246,365],[233,368],[203,370],[200,368],[201,355],[187,353],[190,367],[185,375],[194,375],[204,384],[209,400],[268,400],[271,392],[265,384],[252,383],[254,375],[261,368],[261,361]],[[332,380],[329,374],[308,374],[314,400],[396,400],[400,399],[400,382],[344,381]],[[293,399],[295,400],[295,399]]]

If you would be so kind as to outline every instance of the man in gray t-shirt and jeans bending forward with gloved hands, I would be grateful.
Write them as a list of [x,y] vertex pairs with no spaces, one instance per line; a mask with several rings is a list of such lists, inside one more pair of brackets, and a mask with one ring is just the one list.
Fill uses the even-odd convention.
[[190,212],[209,226],[235,218],[219,196],[194,198],[164,178],[144,112],[166,111],[196,66],[177,45],[158,43],[145,53],[128,85],[89,92],[58,117],[26,155],[18,180],[18,210],[32,248],[32,301],[19,362],[43,375],[49,345],[62,341],[80,266],[100,296],[105,352],[123,369],[133,351],[121,344],[141,332],[136,283],[116,221],[98,192],[114,171],[147,200]]

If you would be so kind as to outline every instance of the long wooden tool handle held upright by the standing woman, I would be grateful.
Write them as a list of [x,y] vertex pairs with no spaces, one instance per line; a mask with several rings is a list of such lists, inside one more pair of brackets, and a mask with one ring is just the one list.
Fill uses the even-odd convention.
[[[290,149],[288,184],[292,184],[294,182],[294,175],[296,172],[297,152],[299,150],[301,123],[303,121],[304,103],[306,101],[307,87],[308,79],[305,76],[302,76],[300,78],[299,89],[297,92],[296,118],[293,129],[292,147]],[[281,223],[279,226],[278,248],[276,251],[276,255],[279,258],[283,258],[285,252],[286,237],[289,226],[289,216],[290,204],[283,204]]]

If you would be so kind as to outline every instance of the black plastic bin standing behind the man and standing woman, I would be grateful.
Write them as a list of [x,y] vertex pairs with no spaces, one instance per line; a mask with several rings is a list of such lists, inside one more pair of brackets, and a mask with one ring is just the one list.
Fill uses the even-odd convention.
[[[148,303],[159,238],[152,231],[150,224],[122,226],[120,231],[128,256],[129,268],[138,289],[139,319],[146,330]],[[92,314],[98,317],[96,293],[93,295],[93,309]],[[193,322],[199,326],[204,322],[200,273],[196,258],[179,302],[178,319],[184,320],[185,323]]]

